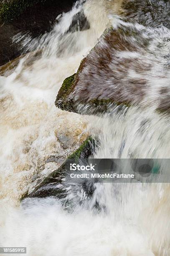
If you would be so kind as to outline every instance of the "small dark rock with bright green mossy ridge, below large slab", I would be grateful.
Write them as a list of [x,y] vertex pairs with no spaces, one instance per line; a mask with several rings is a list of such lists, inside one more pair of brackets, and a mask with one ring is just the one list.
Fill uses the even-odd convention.
[[57,170],[44,178],[32,192],[27,192],[23,195],[21,200],[27,197],[65,197],[66,191],[63,188],[58,188],[57,185],[61,184],[65,178],[67,172],[66,164],[68,164],[68,161],[78,162],[80,159],[87,159],[94,153],[95,148],[96,141],[91,137],[87,138],[73,154],[68,156],[67,160]]

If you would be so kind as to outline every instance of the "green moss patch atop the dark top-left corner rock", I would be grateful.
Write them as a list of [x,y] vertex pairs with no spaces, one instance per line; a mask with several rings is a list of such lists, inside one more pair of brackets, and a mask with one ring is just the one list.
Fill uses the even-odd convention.
[[44,3],[46,0],[10,0],[10,2],[0,3],[0,22],[8,22],[19,16],[23,11],[38,2]]

